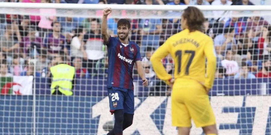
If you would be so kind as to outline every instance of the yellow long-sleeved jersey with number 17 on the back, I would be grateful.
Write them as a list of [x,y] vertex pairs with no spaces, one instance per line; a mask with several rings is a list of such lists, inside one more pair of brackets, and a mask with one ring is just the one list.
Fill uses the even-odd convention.
[[[200,31],[185,29],[168,38],[151,56],[151,64],[156,75],[166,82],[172,78],[161,63],[170,55],[174,61],[174,79],[195,79],[211,88],[216,70],[216,53],[213,40]],[[207,58],[207,65],[206,65]]]

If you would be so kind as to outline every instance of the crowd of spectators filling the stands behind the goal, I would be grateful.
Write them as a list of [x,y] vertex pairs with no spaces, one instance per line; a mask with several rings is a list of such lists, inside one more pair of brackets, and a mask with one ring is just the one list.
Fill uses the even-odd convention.
[[[84,3],[84,4],[167,4],[167,5],[254,5],[249,0],[0,0],[1,2]],[[37,10],[37,9],[33,9]],[[107,52],[101,37],[101,18],[56,16],[55,9],[40,9],[41,14],[0,15],[0,76],[33,75],[48,77],[49,68],[67,63],[76,68],[76,78],[94,76],[106,79]],[[98,11],[97,11],[98,12]],[[67,13],[69,14],[69,13]],[[222,15],[221,11],[213,11]],[[55,16],[54,16],[55,15]],[[269,18],[270,19],[270,18]],[[118,18],[108,19],[111,36],[117,36]],[[152,70],[150,57],[164,41],[181,31],[179,18],[131,19],[130,40],[141,48],[142,64],[150,80],[150,91],[170,91]],[[271,77],[271,27],[261,16],[208,18],[204,33],[213,38],[217,55],[216,78]],[[36,49],[34,49],[36,46]],[[36,55],[35,55],[36,54]],[[34,59],[35,58],[35,59]],[[36,60],[36,61],[34,61]],[[168,73],[173,73],[173,60],[163,60]],[[136,70],[134,71],[136,72]],[[137,73],[135,73],[137,74]],[[134,79],[139,79],[134,76]],[[150,95],[157,95],[150,92]],[[170,92],[165,93],[170,95]]]

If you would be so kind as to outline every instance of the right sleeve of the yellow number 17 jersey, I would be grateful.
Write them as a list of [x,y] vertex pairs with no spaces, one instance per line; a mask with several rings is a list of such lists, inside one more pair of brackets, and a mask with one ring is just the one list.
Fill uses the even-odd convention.
[[213,41],[211,39],[208,39],[204,46],[204,54],[207,58],[206,79],[204,85],[207,88],[212,88],[216,72],[216,54],[214,51]]

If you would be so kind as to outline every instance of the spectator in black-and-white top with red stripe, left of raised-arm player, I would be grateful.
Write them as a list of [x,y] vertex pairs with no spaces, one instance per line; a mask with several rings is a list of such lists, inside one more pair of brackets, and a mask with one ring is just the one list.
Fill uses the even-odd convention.
[[[98,23],[98,19],[92,19],[91,29],[84,35],[83,44],[86,46],[89,73],[94,73],[96,62],[104,58],[104,43],[101,36],[101,24]],[[83,67],[86,67],[84,64]]]

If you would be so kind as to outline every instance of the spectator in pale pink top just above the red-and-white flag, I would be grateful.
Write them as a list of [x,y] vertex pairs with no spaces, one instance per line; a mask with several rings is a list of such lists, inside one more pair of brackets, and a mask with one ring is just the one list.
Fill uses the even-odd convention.
[[19,76],[20,73],[23,72],[23,65],[20,64],[20,57],[18,57],[18,54],[13,55],[10,72],[15,76]]

